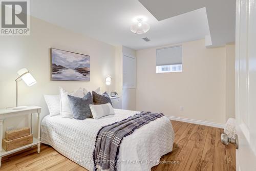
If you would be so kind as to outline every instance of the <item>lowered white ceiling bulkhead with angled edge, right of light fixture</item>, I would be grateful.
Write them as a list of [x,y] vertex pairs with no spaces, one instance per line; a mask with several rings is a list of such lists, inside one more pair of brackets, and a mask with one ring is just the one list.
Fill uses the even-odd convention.
[[206,7],[211,47],[234,42],[236,35],[236,0],[139,0],[159,21]]

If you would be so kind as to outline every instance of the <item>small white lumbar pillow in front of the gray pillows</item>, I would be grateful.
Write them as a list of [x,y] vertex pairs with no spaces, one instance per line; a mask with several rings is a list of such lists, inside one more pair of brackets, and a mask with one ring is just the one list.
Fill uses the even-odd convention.
[[107,115],[115,115],[114,109],[110,103],[89,104],[94,119],[99,119]]

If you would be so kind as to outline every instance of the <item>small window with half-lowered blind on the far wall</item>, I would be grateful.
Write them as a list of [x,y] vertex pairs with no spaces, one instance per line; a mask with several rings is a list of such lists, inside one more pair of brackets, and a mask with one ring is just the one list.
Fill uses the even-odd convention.
[[182,46],[157,49],[156,73],[182,72]]

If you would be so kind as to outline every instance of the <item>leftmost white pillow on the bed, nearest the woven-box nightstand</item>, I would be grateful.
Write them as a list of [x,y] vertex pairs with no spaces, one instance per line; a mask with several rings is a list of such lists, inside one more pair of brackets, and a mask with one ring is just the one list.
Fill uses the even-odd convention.
[[60,114],[59,95],[44,95],[50,116]]

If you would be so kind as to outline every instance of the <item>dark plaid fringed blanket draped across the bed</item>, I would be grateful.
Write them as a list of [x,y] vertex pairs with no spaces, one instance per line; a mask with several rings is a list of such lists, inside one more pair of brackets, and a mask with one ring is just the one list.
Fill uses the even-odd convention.
[[141,112],[127,119],[103,126],[95,140],[94,170],[116,170],[117,156],[122,139],[141,126],[162,117],[163,114]]

